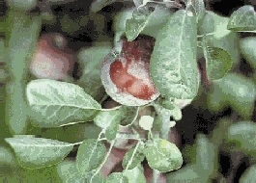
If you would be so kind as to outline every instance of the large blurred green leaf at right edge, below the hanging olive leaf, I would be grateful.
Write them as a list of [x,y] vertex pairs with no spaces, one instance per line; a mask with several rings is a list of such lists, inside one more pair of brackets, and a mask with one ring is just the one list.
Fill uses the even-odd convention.
[[242,117],[248,118],[253,113],[254,100],[256,97],[255,84],[240,74],[229,73],[222,79],[214,81],[213,92],[208,95],[221,96],[220,106],[229,104]]

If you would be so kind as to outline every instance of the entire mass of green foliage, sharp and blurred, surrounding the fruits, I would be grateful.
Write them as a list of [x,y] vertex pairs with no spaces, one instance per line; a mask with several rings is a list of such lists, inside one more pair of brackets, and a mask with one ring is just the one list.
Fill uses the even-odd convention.
[[[209,182],[223,179],[217,160],[221,151],[242,152],[252,163],[241,182],[255,181],[255,10],[246,5],[223,17],[206,10],[203,0],[179,2],[130,1],[128,9],[111,14],[113,32],[109,36],[95,25],[107,21],[104,9],[120,2],[92,1],[86,15],[79,16],[88,23],[75,22],[77,29],[62,31],[71,37],[83,25],[92,40],[98,39],[75,53],[81,76],[56,81],[33,78],[30,61],[42,27],[51,21],[64,27],[67,18],[72,18],[66,14],[59,20],[46,20],[45,12],[35,13],[42,4],[7,0],[9,10],[0,33],[5,37],[0,39],[4,55],[0,70],[7,75],[0,96],[0,182],[143,183],[147,177],[144,162],[155,172],[168,172],[169,182]],[[51,3],[60,6],[61,1]],[[241,38],[239,34],[250,35]],[[106,107],[101,63],[107,54],[114,56],[111,47],[119,45],[122,37],[132,41],[142,36],[156,39],[150,75],[160,96],[144,106]],[[240,55],[252,70],[247,75],[238,70]],[[204,87],[208,91],[201,92]],[[233,115],[216,120],[212,134],[197,134],[195,143],[184,144],[182,150],[181,145],[170,142],[168,133],[185,116],[185,105],[191,100],[200,103],[201,98],[211,113],[230,108]],[[151,118],[141,121],[145,116]],[[153,124],[147,121],[152,118]],[[185,125],[190,126],[189,122]],[[128,141],[133,144],[126,145]],[[120,142],[126,150],[122,170],[102,176],[100,170]],[[77,154],[70,159],[73,152]]]

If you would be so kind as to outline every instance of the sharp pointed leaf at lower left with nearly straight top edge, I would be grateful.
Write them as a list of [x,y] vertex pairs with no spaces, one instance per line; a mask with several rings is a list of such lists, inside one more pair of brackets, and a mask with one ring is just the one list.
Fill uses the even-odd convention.
[[7,138],[21,166],[38,169],[61,162],[73,144],[43,138]]

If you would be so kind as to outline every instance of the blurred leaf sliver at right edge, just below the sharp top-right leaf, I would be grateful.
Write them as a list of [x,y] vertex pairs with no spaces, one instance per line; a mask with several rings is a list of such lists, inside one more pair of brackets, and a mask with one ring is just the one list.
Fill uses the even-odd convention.
[[256,69],[256,37],[249,37],[240,40],[242,56]]

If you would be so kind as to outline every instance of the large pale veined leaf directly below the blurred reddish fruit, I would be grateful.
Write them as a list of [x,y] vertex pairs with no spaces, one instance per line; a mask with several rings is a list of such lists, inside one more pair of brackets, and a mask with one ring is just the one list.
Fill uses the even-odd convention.
[[33,124],[57,127],[92,120],[100,104],[80,87],[60,81],[38,79],[27,85]]

